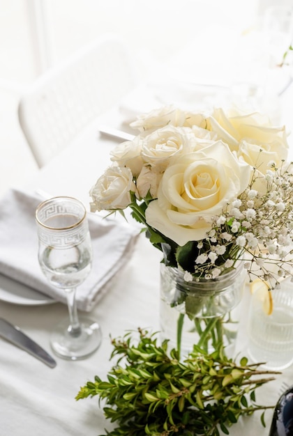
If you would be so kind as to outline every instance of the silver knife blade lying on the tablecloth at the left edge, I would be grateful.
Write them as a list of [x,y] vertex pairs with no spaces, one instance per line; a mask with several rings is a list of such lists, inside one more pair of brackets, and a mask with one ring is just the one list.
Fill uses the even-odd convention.
[[45,351],[40,345],[34,342],[29,336],[24,334],[20,327],[10,324],[10,322],[0,318],[0,336],[7,339],[22,350],[27,351],[33,357],[36,357],[44,364],[54,368],[57,362]]

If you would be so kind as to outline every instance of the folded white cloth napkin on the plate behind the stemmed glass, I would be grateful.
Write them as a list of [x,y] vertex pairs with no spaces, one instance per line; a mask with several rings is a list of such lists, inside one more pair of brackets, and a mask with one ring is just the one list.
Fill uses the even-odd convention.
[[[0,200],[0,273],[26,286],[66,302],[62,290],[48,284],[38,264],[37,205],[43,198],[10,189]],[[129,260],[140,229],[130,224],[89,214],[93,266],[77,288],[77,307],[91,311]]]

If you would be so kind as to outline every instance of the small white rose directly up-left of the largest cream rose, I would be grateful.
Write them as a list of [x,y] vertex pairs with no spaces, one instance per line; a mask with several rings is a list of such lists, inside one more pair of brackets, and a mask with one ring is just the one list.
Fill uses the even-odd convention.
[[195,148],[195,135],[188,127],[163,127],[142,141],[142,158],[153,171],[163,172],[172,159],[190,153]]

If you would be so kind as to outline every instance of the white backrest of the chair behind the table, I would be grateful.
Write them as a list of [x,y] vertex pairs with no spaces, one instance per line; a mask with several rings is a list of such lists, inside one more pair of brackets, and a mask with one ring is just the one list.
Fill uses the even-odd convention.
[[107,35],[36,80],[20,99],[18,116],[38,166],[44,166],[94,118],[137,84],[132,56]]

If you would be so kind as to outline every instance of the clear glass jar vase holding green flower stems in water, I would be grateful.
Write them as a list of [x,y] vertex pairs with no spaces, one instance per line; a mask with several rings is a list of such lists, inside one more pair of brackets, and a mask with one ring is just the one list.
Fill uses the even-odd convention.
[[233,357],[246,281],[242,263],[216,279],[185,281],[177,268],[160,267],[160,331],[183,357],[199,345],[213,352],[219,345]]

